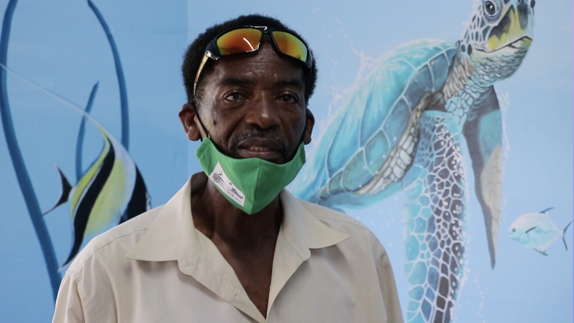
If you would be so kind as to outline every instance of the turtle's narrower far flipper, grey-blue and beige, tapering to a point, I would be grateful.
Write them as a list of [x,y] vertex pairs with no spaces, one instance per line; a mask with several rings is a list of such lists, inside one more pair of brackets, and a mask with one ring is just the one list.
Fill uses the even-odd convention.
[[494,268],[502,208],[502,116],[494,88],[476,102],[464,124],[476,197],[482,207],[490,266]]

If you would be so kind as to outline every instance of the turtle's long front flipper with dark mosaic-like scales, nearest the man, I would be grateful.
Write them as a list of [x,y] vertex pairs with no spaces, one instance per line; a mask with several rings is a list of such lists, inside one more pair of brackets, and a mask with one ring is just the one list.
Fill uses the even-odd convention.
[[452,115],[425,111],[404,188],[407,321],[449,322],[464,271],[466,175],[462,134]]

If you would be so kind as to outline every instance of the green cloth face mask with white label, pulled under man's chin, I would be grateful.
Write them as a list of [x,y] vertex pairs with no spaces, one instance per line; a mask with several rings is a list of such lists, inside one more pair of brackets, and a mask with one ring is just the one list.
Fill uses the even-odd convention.
[[219,192],[247,214],[261,211],[271,203],[305,164],[305,147],[286,164],[273,164],[261,158],[235,159],[222,154],[209,138],[195,153],[199,164]]

